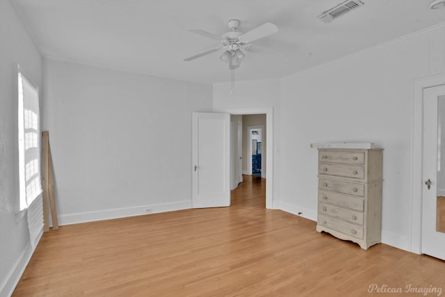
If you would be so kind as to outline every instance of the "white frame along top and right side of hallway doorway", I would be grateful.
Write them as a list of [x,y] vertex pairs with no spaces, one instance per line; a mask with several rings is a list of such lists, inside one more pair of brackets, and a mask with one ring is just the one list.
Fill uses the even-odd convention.
[[273,201],[273,107],[216,108],[213,112],[266,114],[266,208],[277,209]]

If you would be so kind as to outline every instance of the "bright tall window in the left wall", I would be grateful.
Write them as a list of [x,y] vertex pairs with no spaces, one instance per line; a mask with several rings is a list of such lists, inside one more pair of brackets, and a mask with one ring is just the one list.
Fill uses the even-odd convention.
[[42,193],[40,182],[39,92],[24,74],[18,80],[19,210],[24,210]]

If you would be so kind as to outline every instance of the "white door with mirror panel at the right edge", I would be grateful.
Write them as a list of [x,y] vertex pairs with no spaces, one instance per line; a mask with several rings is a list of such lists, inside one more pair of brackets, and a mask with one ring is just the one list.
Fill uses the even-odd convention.
[[422,253],[445,260],[445,85],[423,93]]

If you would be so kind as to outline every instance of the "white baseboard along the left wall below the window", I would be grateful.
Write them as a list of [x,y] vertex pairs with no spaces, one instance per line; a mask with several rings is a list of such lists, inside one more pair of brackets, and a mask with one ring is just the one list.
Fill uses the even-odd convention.
[[[40,241],[42,234],[43,229],[40,231],[37,241]],[[31,244],[28,244],[28,247],[22,252],[21,255],[19,255],[19,257],[17,257],[17,261],[15,262],[13,269],[10,270],[6,276],[6,279],[0,284],[0,296],[3,297],[13,295],[15,287],[19,283],[20,278],[22,278],[22,275],[26,269],[26,266],[28,266],[34,251],[35,248],[33,249]]]

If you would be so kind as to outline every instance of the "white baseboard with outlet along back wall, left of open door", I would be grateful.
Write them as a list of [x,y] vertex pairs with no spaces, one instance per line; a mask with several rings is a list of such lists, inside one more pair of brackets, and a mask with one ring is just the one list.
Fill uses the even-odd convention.
[[[151,212],[145,209],[151,208]],[[135,207],[117,208],[113,210],[100,210],[98,212],[81,212],[76,214],[61,214],[58,217],[60,226],[74,223],[86,223],[90,221],[103,221],[108,219],[118,219],[124,217],[135,217],[143,214],[156,214],[158,212],[172,212],[175,210],[188,210],[192,207],[192,201],[178,201],[173,203],[161,203],[154,205],[143,205]]]

